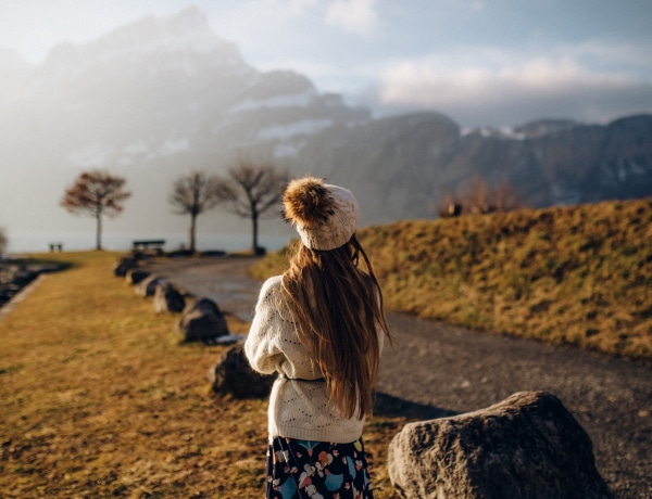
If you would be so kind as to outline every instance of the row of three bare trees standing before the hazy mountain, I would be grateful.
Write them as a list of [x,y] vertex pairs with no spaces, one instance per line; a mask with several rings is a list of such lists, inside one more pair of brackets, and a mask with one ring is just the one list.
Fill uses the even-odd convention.
[[[273,164],[240,159],[226,176],[193,171],[173,184],[168,202],[174,213],[190,216],[189,250],[196,251],[197,217],[216,206],[251,220],[252,252],[258,254],[259,220],[278,204],[289,177]],[[102,217],[118,215],[131,193],[126,180],[106,171],[85,171],[66,189],[61,205],[70,213],[96,219],[96,248],[102,248]]]

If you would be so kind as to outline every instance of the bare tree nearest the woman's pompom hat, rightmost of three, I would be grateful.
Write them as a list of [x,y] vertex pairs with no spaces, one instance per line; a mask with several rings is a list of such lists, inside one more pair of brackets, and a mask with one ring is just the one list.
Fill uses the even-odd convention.
[[239,159],[222,182],[221,197],[227,202],[227,209],[251,220],[251,251],[254,255],[262,252],[258,243],[259,219],[280,203],[288,180],[288,174],[272,164]]

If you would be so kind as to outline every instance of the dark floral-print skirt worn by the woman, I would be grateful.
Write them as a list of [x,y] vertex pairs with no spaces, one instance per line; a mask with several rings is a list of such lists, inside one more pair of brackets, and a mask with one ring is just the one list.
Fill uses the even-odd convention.
[[373,499],[362,439],[276,437],[267,450],[267,499]]

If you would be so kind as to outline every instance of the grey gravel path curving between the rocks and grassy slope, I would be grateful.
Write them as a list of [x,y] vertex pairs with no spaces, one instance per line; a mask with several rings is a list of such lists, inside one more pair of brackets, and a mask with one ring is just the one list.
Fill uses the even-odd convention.
[[[260,281],[251,258],[154,264],[179,287],[251,320]],[[419,419],[480,409],[516,392],[559,397],[593,440],[598,469],[617,498],[652,498],[652,362],[631,362],[388,314],[380,410]]]

